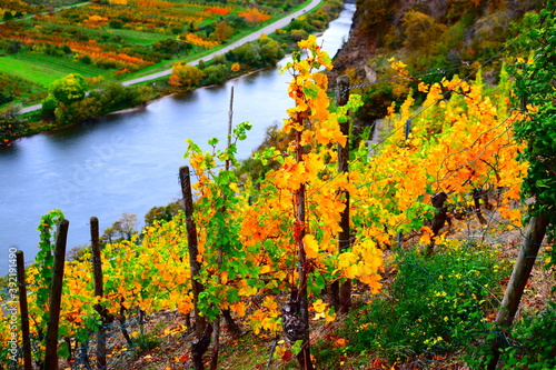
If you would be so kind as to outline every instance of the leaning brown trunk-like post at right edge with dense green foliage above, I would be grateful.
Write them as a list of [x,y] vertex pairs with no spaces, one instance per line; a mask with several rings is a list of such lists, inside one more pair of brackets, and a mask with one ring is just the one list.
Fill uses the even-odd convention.
[[[514,123],[514,138],[524,143],[520,158],[528,162],[527,174],[522,183],[522,199],[534,199],[528,203],[529,226],[522,243],[519,256],[496,317],[499,329],[510,331],[519,301],[529,279],[537,253],[545,234],[554,238],[556,226],[556,188],[553,186],[556,168],[556,18],[554,0],[549,0],[539,13],[539,23],[532,28],[529,41],[536,46],[530,61],[517,61],[510,67],[515,76],[515,97],[520,112]],[[550,252],[550,266],[555,264],[556,252]],[[533,338],[532,341],[537,340]],[[497,367],[500,349],[506,343],[496,338],[487,357],[487,369]]]

